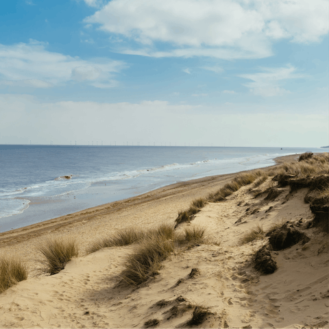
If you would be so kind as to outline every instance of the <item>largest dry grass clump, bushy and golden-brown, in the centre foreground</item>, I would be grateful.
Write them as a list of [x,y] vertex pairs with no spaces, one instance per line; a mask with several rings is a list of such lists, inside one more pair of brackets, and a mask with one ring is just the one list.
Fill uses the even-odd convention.
[[121,278],[128,284],[141,284],[158,273],[162,260],[173,252],[173,241],[163,235],[141,242],[136,251],[127,257]]

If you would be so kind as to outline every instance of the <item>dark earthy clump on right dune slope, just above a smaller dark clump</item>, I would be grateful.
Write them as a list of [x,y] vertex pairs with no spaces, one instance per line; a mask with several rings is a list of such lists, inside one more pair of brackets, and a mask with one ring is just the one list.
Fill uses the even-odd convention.
[[300,241],[303,244],[310,241],[306,234],[288,225],[285,223],[281,228],[269,233],[269,243],[271,243],[273,250],[286,249]]

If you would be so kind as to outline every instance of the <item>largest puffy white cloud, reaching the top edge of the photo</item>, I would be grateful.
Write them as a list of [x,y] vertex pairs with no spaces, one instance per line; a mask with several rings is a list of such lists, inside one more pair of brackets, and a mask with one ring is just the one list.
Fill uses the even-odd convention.
[[[90,5],[95,0],[85,0]],[[112,0],[87,17],[105,32],[141,44],[117,49],[152,57],[265,58],[275,40],[317,42],[328,33],[328,1]],[[157,42],[169,47],[156,49]]]

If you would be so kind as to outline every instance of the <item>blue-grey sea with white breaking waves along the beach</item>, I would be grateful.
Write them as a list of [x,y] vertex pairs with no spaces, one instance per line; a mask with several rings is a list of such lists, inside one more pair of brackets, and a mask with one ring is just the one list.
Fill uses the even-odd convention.
[[317,147],[0,145],[0,232]]

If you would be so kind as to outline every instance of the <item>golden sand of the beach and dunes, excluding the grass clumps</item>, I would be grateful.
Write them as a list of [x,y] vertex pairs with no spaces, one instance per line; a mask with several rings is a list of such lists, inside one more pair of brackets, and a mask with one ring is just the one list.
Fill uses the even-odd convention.
[[[86,255],[93,241],[121,228],[173,223],[178,210],[232,177],[178,183],[0,234],[0,254],[23,257],[31,273],[38,258],[35,245],[45,236],[75,236],[80,246],[80,256],[60,273],[30,276],[0,295],[0,328],[147,328],[145,323],[155,319],[159,323],[149,328],[192,328],[188,321],[195,306],[208,308],[209,314],[194,328],[329,328],[328,235],[303,228],[313,218],[303,201],[306,189],[289,193],[289,187],[281,188],[279,197],[265,202],[245,186],[226,202],[208,204],[178,228],[202,226],[208,243],[177,249],[158,276],[138,288],[119,283],[125,258],[136,245]],[[267,180],[262,188],[271,184]],[[239,239],[257,223],[266,230],[285,219],[300,223],[310,241],[272,252],[278,270],[260,275],[251,260],[267,239],[245,245]],[[192,269],[197,269],[194,278],[189,277]]]

